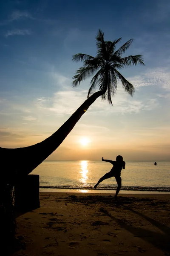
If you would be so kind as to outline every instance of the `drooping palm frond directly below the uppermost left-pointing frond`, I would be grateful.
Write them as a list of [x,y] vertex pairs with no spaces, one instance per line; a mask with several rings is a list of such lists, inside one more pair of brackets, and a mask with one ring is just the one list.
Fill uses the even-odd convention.
[[80,67],[77,70],[76,75],[72,78],[74,79],[72,82],[73,87],[77,87],[83,80],[93,76],[96,71],[95,67]]

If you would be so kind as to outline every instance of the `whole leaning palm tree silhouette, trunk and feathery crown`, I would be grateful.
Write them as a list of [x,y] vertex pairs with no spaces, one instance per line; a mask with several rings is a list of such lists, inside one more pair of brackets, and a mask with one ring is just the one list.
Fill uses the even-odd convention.
[[[144,63],[142,55],[122,57],[123,53],[132,44],[133,39],[130,39],[116,50],[116,45],[121,39],[119,38],[113,42],[105,41],[104,33],[99,29],[96,36],[96,57],[82,53],[77,53],[73,56],[73,61],[84,62],[84,66],[80,67],[73,77],[73,86],[78,86],[84,79],[96,73],[91,80],[88,99],[54,134],[42,142],[24,148],[0,148],[3,164],[1,182],[14,183],[14,180],[21,179],[23,175],[28,175],[40,165],[65,140],[65,137],[74,128],[81,116],[99,96],[102,96],[102,99],[107,99],[112,104],[111,96],[116,92],[117,80],[122,82],[125,92],[133,96],[133,85],[119,73],[119,70],[132,65],[144,65]],[[99,90],[94,93],[97,86]]]

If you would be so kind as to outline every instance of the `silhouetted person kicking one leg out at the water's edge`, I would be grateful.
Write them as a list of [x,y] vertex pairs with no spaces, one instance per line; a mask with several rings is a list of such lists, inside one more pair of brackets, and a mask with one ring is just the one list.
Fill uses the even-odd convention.
[[121,174],[122,168],[125,169],[125,161],[123,161],[122,156],[117,156],[116,161],[106,160],[102,157],[102,161],[109,162],[109,163],[113,164],[113,167],[110,172],[106,173],[103,177],[101,177],[99,179],[99,181],[94,186],[94,189],[96,189],[96,187],[99,185],[99,183],[102,182],[103,180],[109,179],[111,177],[115,177],[116,182],[117,182],[117,189],[116,189],[116,194],[115,194],[115,197],[116,197],[120,191],[121,186],[122,186],[122,178],[120,177],[120,174]]

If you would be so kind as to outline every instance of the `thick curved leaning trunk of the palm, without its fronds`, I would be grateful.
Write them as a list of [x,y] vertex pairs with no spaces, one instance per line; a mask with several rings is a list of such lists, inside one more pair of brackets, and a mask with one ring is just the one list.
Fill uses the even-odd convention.
[[0,156],[4,169],[1,179],[8,184],[14,184],[18,179],[32,172],[65,140],[81,116],[104,90],[94,93],[75,111],[72,116],[50,137],[40,143],[24,148],[0,148]]

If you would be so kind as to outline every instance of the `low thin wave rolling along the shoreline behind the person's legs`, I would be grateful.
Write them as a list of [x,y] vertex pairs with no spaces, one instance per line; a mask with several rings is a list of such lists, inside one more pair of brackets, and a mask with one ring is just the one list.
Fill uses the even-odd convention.
[[[44,189],[76,189],[76,190],[92,190],[93,186],[40,186]],[[117,186],[100,186],[96,190],[115,190]],[[148,187],[148,186],[122,186],[121,190],[133,191],[157,191],[157,192],[170,192],[170,187]]]

